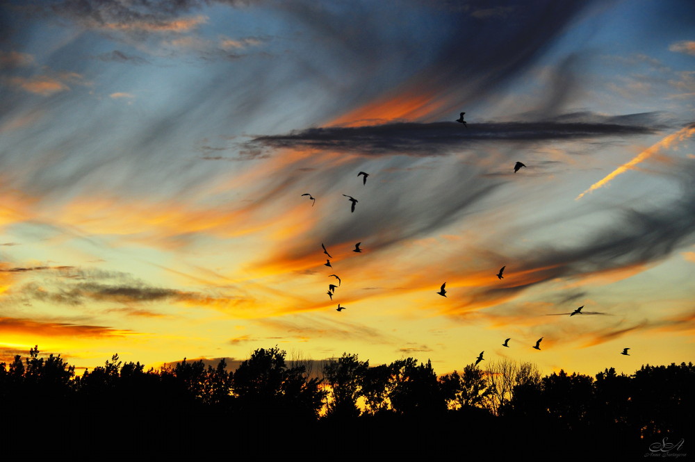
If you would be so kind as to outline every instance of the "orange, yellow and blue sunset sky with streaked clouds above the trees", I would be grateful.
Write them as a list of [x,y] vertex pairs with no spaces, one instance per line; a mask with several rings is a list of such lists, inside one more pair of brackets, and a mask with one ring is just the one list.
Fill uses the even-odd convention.
[[8,0],[0,99],[0,361],[695,358],[692,0]]

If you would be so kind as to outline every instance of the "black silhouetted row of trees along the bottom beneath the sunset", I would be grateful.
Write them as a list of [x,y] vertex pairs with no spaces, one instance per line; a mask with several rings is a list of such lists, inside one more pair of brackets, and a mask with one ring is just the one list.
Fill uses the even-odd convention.
[[512,360],[438,376],[430,361],[370,366],[354,354],[324,361],[318,373],[312,367],[273,347],[256,349],[233,372],[224,360],[145,370],[115,355],[76,377],[60,355],[40,357],[35,347],[0,363],[0,429],[54,435],[102,456],[207,450],[292,459],[339,448],[366,460],[530,447],[535,459],[555,451],[644,456],[652,443],[695,434],[692,363],[596,377],[541,377],[532,363]]

